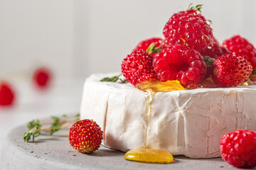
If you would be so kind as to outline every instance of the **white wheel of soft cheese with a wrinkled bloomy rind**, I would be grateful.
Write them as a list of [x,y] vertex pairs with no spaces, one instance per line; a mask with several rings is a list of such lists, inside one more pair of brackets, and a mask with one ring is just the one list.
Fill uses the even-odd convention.
[[[92,74],[85,81],[81,119],[95,120],[104,145],[127,152],[151,147],[191,158],[220,157],[221,137],[236,129],[256,130],[256,86],[156,93],[146,115],[146,94],[132,84],[101,82],[117,74]],[[146,130],[148,128],[148,130]]]

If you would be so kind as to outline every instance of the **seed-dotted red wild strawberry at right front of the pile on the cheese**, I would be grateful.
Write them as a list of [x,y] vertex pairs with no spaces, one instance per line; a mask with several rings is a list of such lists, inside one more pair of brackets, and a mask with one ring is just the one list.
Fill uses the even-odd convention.
[[244,57],[223,55],[213,62],[213,81],[220,86],[238,86],[252,74],[252,65]]

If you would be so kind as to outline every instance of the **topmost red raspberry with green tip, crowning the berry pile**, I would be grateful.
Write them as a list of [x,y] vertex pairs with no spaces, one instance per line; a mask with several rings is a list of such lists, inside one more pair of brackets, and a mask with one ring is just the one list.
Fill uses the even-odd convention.
[[213,46],[213,31],[200,14],[201,6],[174,13],[164,26],[164,37],[170,45],[181,44],[199,52]]

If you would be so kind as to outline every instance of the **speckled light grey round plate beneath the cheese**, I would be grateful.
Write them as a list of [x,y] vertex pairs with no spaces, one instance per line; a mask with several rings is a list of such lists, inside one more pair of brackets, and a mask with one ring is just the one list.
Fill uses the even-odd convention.
[[236,169],[221,158],[188,159],[174,157],[171,164],[129,162],[124,153],[100,147],[92,154],[77,152],[68,142],[68,129],[49,136],[46,132],[35,142],[23,142],[26,126],[12,130],[1,152],[1,169]]

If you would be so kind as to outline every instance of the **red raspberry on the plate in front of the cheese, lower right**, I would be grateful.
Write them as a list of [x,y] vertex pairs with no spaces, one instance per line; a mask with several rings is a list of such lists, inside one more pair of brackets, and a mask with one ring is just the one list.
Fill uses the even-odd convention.
[[238,168],[256,166],[256,132],[235,130],[223,135],[220,140],[220,154],[223,159]]

